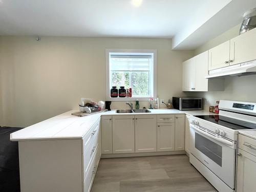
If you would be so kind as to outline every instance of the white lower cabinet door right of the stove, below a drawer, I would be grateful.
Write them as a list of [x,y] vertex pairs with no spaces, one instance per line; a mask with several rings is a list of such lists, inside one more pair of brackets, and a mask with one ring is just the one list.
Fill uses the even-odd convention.
[[256,189],[256,157],[238,149],[237,192],[249,192]]

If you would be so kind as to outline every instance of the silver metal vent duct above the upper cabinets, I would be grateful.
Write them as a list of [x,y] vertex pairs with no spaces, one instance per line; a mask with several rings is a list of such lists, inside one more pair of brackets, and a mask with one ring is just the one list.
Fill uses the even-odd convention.
[[243,22],[239,35],[256,27],[256,8],[251,9],[243,14]]

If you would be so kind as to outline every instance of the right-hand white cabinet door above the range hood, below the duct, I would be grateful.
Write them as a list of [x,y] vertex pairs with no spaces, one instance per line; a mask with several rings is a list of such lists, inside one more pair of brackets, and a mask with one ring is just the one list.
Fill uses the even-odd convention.
[[230,65],[256,59],[256,29],[230,40]]

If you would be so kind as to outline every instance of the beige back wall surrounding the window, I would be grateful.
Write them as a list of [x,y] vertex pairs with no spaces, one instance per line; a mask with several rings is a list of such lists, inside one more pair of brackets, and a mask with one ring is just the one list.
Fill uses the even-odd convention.
[[[183,95],[182,61],[170,39],[0,36],[0,126],[28,126],[77,109],[80,97],[105,100],[105,49],[157,49],[157,95]],[[140,106],[148,107],[147,102]],[[127,108],[112,102],[112,109]]]

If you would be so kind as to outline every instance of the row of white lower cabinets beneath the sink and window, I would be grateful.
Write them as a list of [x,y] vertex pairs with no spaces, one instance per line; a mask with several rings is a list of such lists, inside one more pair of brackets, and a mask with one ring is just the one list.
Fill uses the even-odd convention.
[[101,117],[102,154],[185,150],[185,115]]

